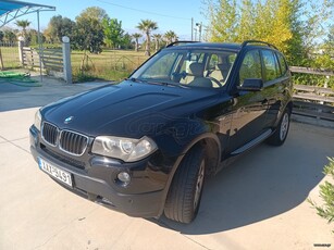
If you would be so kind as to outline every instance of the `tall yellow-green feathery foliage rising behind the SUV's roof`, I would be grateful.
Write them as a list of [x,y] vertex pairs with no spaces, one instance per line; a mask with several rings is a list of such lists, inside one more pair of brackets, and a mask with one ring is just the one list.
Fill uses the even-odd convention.
[[290,64],[304,65],[323,37],[333,0],[206,0],[211,41],[257,39],[283,51]]

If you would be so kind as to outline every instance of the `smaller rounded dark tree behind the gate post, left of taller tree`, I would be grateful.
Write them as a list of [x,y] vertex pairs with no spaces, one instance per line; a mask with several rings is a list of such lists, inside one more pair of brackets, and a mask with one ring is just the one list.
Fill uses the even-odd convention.
[[62,42],[63,36],[67,36],[72,40],[75,22],[61,15],[54,15],[44,34],[50,42]]

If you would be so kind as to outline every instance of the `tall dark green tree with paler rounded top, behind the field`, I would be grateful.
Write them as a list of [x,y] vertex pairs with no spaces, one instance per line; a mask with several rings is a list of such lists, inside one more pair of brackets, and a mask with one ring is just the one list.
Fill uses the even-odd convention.
[[100,53],[104,39],[103,18],[108,18],[106,11],[98,7],[90,7],[76,16],[73,33],[73,47],[78,50]]

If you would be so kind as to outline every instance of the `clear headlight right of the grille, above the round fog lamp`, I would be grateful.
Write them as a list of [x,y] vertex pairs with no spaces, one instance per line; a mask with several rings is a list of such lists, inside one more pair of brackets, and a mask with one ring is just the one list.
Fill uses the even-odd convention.
[[148,157],[157,148],[154,141],[146,136],[141,139],[98,136],[94,140],[91,152],[125,162],[135,162]]

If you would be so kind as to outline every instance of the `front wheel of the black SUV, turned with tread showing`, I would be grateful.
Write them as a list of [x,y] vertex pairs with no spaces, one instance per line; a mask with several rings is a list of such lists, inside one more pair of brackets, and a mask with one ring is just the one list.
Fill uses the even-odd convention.
[[205,150],[195,146],[183,159],[173,177],[164,215],[173,221],[190,223],[197,215],[206,173]]

